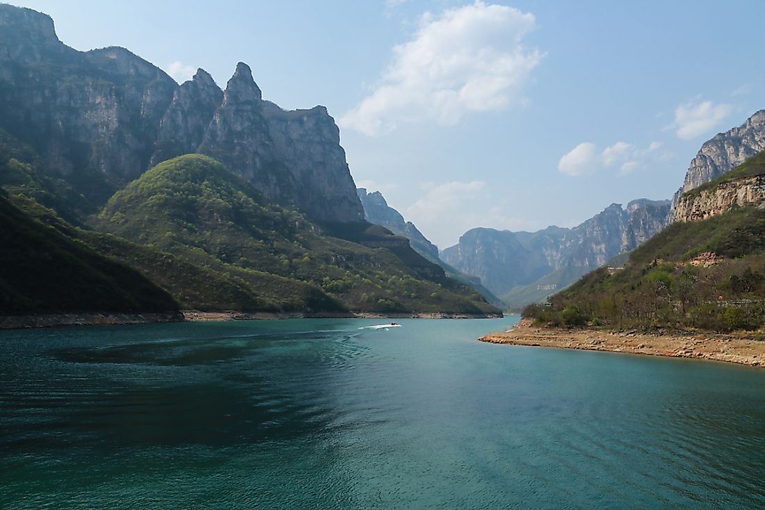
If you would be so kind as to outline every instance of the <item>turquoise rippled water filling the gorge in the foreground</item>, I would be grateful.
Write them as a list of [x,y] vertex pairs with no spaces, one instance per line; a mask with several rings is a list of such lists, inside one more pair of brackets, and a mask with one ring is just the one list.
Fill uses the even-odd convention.
[[765,508],[765,370],[514,322],[0,333],[0,508]]

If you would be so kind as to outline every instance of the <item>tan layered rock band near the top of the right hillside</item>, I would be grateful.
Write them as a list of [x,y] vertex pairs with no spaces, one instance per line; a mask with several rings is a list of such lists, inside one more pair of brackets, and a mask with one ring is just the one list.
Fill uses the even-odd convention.
[[680,197],[675,206],[675,221],[697,221],[727,213],[735,206],[760,206],[763,203],[765,176],[731,180],[717,187]]

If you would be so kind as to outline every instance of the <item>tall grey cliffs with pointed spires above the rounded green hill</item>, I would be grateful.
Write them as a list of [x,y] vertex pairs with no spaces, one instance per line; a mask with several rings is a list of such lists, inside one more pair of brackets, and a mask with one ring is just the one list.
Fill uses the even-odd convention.
[[323,106],[286,112],[264,101],[244,63],[225,91],[204,70],[178,86],[123,48],[73,50],[50,17],[11,5],[0,5],[0,128],[93,209],[159,161],[203,152],[315,221],[363,220]]

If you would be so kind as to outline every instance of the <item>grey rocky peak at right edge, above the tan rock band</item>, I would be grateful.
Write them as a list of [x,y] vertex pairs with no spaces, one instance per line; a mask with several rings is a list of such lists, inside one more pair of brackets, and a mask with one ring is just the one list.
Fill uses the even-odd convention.
[[744,124],[719,133],[702,145],[688,167],[685,182],[672,198],[672,210],[675,210],[683,193],[721,176],[763,150],[765,110],[760,110]]

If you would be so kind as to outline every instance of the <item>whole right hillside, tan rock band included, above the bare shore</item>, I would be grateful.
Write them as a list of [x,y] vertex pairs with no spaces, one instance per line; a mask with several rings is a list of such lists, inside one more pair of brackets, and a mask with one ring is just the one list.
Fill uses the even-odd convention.
[[683,193],[675,222],[623,269],[598,268],[550,300],[524,314],[621,328],[765,326],[765,152]]

